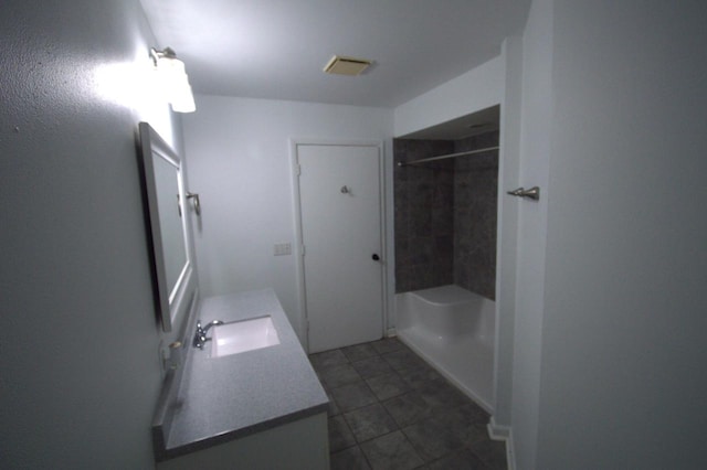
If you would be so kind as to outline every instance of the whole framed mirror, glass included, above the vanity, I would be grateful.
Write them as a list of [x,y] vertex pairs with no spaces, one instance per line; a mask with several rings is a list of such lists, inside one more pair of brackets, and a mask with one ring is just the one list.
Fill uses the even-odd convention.
[[149,124],[139,124],[139,135],[157,308],[162,330],[170,332],[179,312],[178,299],[192,270],[181,160]]

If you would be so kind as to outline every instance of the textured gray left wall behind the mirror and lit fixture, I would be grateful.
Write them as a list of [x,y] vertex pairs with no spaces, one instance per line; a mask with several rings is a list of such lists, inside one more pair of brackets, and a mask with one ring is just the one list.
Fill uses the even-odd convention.
[[137,0],[6,0],[0,44],[2,467],[151,468],[160,332],[135,132],[158,115],[172,130],[136,79],[151,33]]

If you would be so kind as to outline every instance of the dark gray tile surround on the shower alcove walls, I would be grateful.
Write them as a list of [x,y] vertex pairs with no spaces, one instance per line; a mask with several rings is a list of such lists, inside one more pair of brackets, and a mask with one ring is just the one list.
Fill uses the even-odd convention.
[[[495,147],[498,131],[463,140],[393,140],[395,161]],[[456,284],[489,299],[496,285],[498,151],[398,167],[395,291]]]

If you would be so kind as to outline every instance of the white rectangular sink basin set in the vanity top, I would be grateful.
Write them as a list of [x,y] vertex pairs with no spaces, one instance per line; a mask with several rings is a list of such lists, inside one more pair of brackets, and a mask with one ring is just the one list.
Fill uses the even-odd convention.
[[211,357],[239,354],[279,344],[273,318],[260,317],[213,327]]

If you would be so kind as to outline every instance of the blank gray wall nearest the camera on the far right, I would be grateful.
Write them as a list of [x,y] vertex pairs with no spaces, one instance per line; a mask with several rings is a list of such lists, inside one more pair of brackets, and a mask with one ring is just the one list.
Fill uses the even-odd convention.
[[555,4],[537,468],[705,464],[706,23]]

